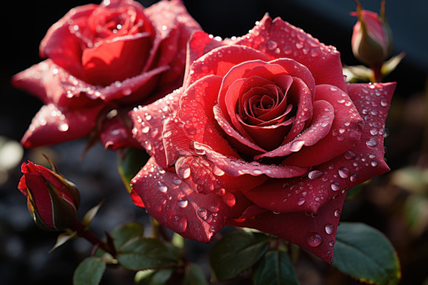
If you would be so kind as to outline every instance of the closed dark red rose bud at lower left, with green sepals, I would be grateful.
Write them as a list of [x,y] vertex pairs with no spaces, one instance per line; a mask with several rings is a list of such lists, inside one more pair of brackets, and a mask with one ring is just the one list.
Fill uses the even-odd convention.
[[73,228],[80,194],[76,185],[59,173],[31,161],[21,166],[24,175],[18,189],[27,197],[28,210],[43,230],[61,231]]

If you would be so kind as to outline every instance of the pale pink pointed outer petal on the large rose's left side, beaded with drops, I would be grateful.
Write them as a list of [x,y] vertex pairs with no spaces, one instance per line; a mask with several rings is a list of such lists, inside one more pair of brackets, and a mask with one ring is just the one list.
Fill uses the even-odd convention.
[[164,120],[177,113],[182,89],[161,98],[148,106],[138,106],[129,112],[134,128],[132,134],[162,168],[167,168],[162,132]]

